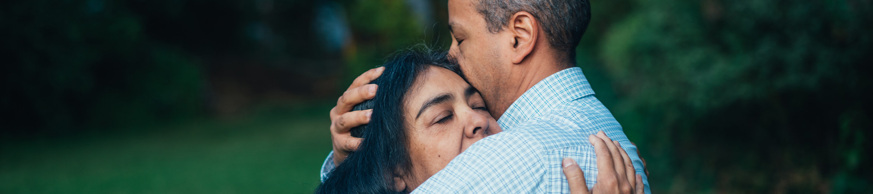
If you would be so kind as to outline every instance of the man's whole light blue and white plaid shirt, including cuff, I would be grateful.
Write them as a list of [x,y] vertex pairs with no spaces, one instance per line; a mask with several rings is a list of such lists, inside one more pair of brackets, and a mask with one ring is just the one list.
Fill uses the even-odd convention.
[[[650,194],[636,147],[594,94],[579,67],[541,80],[500,117],[503,132],[473,143],[413,193],[569,193],[564,157],[579,163],[591,188],[597,163],[588,135],[602,130],[622,144]],[[322,180],[333,170],[332,156],[322,166]]]

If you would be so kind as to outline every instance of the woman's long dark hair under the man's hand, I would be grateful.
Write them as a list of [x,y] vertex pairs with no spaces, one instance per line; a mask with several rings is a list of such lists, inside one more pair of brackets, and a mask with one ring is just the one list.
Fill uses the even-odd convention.
[[430,66],[462,75],[446,52],[433,52],[426,46],[398,52],[383,66],[382,75],[370,82],[379,86],[375,97],[354,107],[373,108],[369,124],[351,131],[353,136],[363,137],[361,145],[328,174],[315,193],[402,193],[395,191],[394,177],[411,171],[403,114],[407,92]]

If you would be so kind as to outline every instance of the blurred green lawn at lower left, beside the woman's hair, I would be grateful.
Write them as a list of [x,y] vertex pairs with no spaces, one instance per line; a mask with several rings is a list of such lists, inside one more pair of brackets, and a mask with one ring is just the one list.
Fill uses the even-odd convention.
[[311,193],[330,120],[293,112],[3,142],[0,193]]

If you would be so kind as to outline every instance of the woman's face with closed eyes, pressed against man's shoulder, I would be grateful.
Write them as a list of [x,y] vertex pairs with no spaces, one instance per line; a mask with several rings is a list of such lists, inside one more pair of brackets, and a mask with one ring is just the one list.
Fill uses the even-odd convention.
[[443,170],[473,142],[501,131],[476,88],[443,67],[430,66],[418,76],[404,107],[412,160],[412,176],[402,177],[407,191]]

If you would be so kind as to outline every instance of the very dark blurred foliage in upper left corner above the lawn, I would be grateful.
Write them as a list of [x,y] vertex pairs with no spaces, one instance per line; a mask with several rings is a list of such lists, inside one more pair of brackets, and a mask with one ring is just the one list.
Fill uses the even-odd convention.
[[185,118],[202,107],[196,61],[155,44],[123,2],[3,3],[7,135]]

